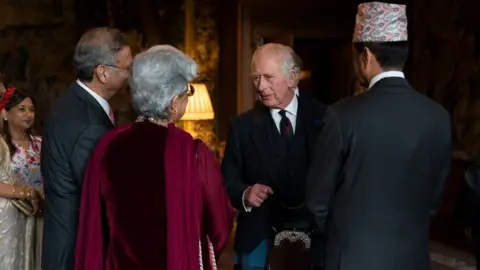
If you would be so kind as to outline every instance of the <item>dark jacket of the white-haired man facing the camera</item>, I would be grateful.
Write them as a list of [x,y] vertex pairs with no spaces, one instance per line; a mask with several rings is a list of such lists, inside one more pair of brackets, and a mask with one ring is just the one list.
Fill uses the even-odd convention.
[[[298,97],[297,126],[299,121],[303,122],[307,149],[313,149],[326,107],[308,95]],[[276,149],[270,141],[271,125],[273,119],[269,109],[257,104],[238,116],[230,126],[222,173],[232,205],[240,212],[235,240],[237,251],[251,251],[272,233],[269,200],[250,213],[245,212],[242,203],[243,192],[248,186],[275,181],[276,172],[282,169],[272,162]]]

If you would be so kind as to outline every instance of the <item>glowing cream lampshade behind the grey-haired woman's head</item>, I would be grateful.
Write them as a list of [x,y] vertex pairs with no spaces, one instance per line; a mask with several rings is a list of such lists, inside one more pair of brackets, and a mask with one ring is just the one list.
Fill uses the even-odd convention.
[[215,118],[212,101],[207,86],[203,83],[192,83],[195,88],[193,96],[188,97],[188,105],[181,120],[212,120]]

